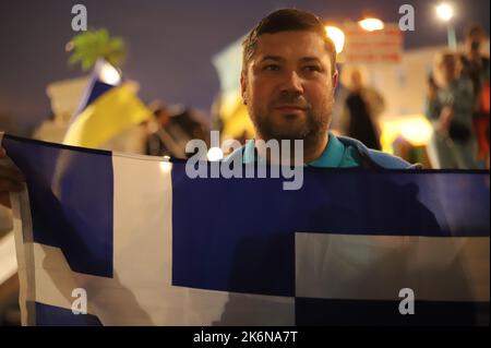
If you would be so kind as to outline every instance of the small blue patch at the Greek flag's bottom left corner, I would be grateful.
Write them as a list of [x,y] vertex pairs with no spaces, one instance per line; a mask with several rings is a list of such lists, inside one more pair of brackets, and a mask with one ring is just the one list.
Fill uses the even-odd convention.
[[40,326],[103,326],[92,314],[73,314],[71,310],[36,302],[36,324]]

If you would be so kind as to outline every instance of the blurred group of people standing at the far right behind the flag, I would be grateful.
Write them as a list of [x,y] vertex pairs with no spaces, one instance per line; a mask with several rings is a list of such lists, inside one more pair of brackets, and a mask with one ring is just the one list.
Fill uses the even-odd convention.
[[426,115],[433,125],[429,146],[436,168],[489,168],[489,58],[480,53],[486,38],[469,28],[465,53],[436,55],[428,79]]

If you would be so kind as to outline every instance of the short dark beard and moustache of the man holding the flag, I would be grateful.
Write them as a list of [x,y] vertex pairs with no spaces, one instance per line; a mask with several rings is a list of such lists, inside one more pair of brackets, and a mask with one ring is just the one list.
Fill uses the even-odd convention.
[[[296,105],[303,108],[303,116],[283,115],[279,118],[273,112],[280,105]],[[303,140],[304,147],[315,145],[325,136],[331,124],[334,105],[334,93],[331,92],[319,107],[311,104],[295,93],[283,93],[278,98],[260,108],[248,105],[249,115],[261,139],[275,140]]]

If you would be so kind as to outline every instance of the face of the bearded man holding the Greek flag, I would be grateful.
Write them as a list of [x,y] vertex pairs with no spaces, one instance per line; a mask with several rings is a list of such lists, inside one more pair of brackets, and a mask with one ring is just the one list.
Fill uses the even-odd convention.
[[266,141],[325,136],[336,83],[324,40],[307,31],[259,36],[241,75],[243,100]]

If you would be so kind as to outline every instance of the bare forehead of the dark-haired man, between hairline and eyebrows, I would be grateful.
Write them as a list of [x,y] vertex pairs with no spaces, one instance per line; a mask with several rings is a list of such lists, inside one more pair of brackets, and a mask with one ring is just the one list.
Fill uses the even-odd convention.
[[307,31],[279,32],[275,34],[262,34],[258,37],[254,58],[262,59],[266,56],[282,57],[285,59],[315,57],[320,60],[327,58],[325,43],[319,34]]

